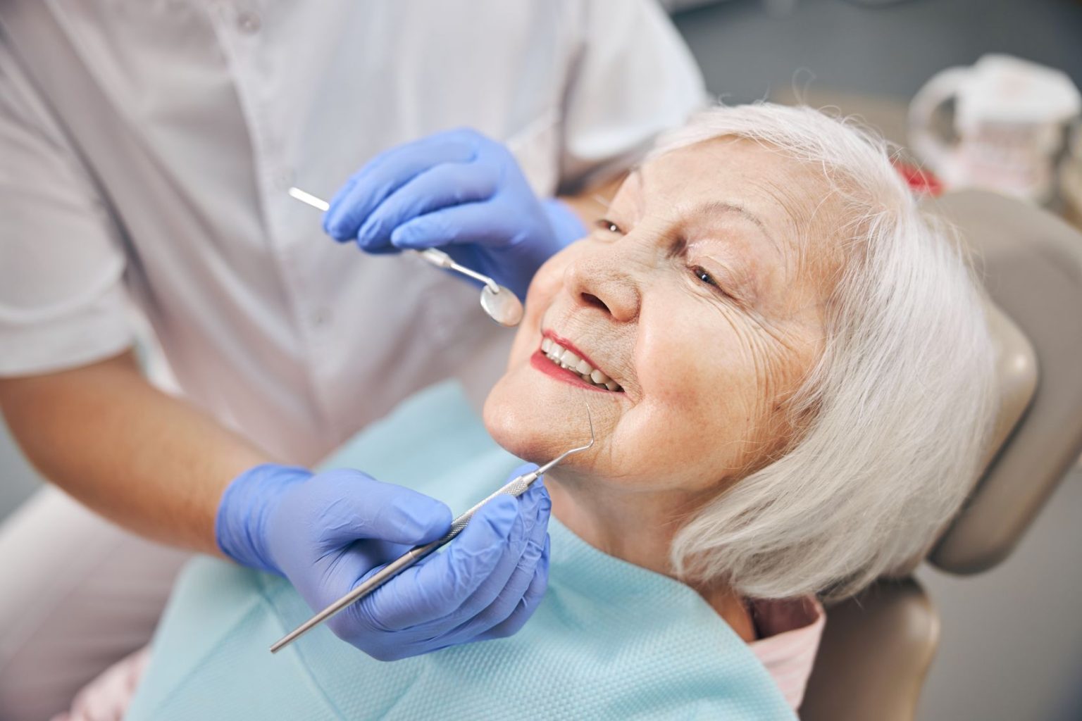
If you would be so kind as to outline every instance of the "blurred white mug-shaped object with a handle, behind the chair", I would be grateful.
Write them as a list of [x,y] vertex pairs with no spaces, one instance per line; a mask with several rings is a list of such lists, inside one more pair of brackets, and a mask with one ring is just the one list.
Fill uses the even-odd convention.
[[[934,122],[954,101],[953,139]],[[1066,74],[1011,55],[934,76],[909,106],[910,145],[948,188],[979,187],[1044,202],[1082,96]],[[941,123],[940,123],[941,125]]]

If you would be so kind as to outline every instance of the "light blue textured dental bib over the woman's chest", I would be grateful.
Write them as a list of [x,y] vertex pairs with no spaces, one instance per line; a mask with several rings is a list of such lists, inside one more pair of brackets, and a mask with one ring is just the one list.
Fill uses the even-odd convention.
[[[460,512],[520,462],[457,385],[414,396],[328,467]],[[606,556],[553,519],[549,590],[510,639],[383,663],[319,628],[281,578],[202,559],[177,582],[130,721],[153,719],[795,719],[748,645],[691,588]]]

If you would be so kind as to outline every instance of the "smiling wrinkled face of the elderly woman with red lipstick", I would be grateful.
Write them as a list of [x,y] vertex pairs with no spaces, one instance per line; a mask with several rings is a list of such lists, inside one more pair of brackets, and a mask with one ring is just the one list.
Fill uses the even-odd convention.
[[[558,478],[628,491],[695,495],[766,465],[821,351],[840,269],[829,196],[820,169],[733,138],[633,172],[533,279],[489,432],[543,463],[586,442],[589,403],[596,444]],[[576,372],[550,358],[564,350]]]

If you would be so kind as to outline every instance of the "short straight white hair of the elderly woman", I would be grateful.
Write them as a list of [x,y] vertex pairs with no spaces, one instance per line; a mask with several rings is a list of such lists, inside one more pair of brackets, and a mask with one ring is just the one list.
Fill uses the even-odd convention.
[[984,296],[882,139],[760,103],[703,111],[651,157],[726,136],[821,168],[844,269],[822,356],[788,403],[796,437],[691,517],[671,561],[750,598],[844,598],[926,552],[976,480],[998,404]]

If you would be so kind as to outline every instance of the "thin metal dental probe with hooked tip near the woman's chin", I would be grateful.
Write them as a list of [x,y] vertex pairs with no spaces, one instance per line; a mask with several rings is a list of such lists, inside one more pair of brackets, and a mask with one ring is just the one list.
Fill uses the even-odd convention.
[[517,498],[518,496],[523,495],[526,492],[526,489],[530,488],[533,481],[538,480],[538,478],[540,478],[542,473],[550,470],[553,466],[560,463],[564,458],[573,453],[579,453],[580,451],[585,451],[591,446],[593,446],[594,419],[590,414],[589,404],[586,405],[586,419],[590,422],[589,443],[586,443],[585,445],[580,445],[577,449],[571,449],[570,451],[564,451],[562,454],[559,454],[545,465],[539,467],[537,470],[531,470],[528,473],[516,476],[515,478],[511,479],[511,481],[509,481],[507,484],[501,488],[499,491],[491,494],[490,496],[478,503],[476,506],[474,506],[473,508],[471,508],[470,510],[467,510],[466,512],[462,513],[457,519],[454,519],[454,521],[451,523],[451,530],[448,531],[443,538],[437,538],[436,540],[433,540],[432,543],[428,544],[424,544],[423,546],[414,546],[410,550],[406,551],[405,553],[399,556],[396,560],[383,566],[378,573],[372,575],[368,580],[360,584],[352,591],[340,598],[338,601],[334,601],[329,606],[327,606],[326,609],[314,615],[312,618],[307,619],[306,622],[294,628],[292,631],[278,639],[278,641],[275,642],[273,646],[270,646],[270,653],[278,653],[287,645],[289,645],[296,639],[301,638],[302,636],[311,631],[319,624],[324,623],[331,616],[334,616],[339,612],[344,611],[355,601],[359,601],[360,599],[365,598],[366,596],[368,596],[377,588],[379,588],[383,584],[394,578],[396,575],[398,575],[406,569],[410,568],[424,557],[432,553],[432,551],[436,550],[444,544],[450,542],[452,538],[454,538],[454,536],[462,533],[462,529],[466,528],[466,523],[470,522],[470,519],[473,518],[474,513],[480,510],[481,506],[487,504],[492,498],[499,495],[509,495]]

